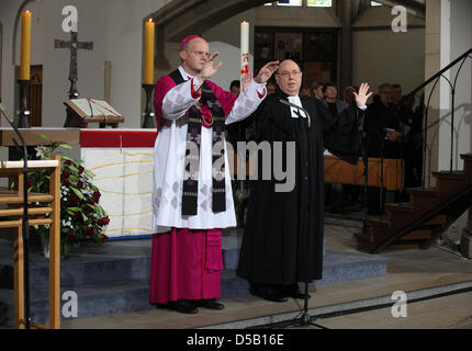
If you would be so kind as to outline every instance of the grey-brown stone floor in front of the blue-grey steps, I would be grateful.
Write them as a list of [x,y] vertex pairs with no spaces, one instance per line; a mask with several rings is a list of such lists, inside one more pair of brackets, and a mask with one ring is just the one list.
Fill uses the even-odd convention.
[[[359,231],[359,222],[327,218],[326,248],[356,252],[352,234]],[[333,329],[446,329],[472,328],[472,288],[468,292],[430,298],[448,286],[458,284],[472,287],[472,260],[462,258],[449,247],[432,246],[428,250],[387,250],[380,256],[387,258],[387,274],[380,278],[327,284],[312,288],[310,310],[326,306],[389,298],[393,292],[428,292],[428,299],[406,305],[405,317],[393,317],[392,307],[345,316],[316,319],[316,324]],[[464,285],[465,286],[465,285]],[[413,295],[412,295],[413,296]],[[181,328],[250,328],[257,320],[291,320],[303,309],[302,301],[271,303],[255,296],[224,301],[223,312],[201,309],[198,315],[182,315],[166,309],[153,309],[123,315],[64,320],[64,329],[181,329]],[[393,304],[394,301],[391,299]],[[276,318],[277,317],[277,318]],[[265,319],[266,318],[266,319]],[[315,328],[315,327],[303,327]]]

